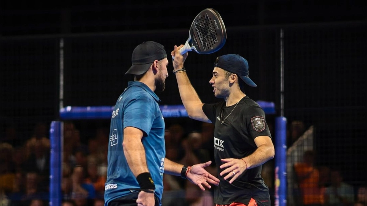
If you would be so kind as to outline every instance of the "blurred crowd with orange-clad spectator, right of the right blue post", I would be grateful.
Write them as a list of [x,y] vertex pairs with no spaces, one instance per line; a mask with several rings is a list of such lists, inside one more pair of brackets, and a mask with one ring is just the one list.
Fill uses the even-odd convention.
[[366,206],[366,183],[346,182],[343,165],[317,163],[315,128],[301,120],[287,129],[288,206]]

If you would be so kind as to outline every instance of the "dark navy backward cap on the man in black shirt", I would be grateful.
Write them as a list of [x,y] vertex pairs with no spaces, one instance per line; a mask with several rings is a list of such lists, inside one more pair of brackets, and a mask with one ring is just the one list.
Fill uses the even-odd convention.
[[241,80],[251,87],[257,85],[248,77],[248,62],[238,54],[226,54],[217,57],[214,66],[237,74]]

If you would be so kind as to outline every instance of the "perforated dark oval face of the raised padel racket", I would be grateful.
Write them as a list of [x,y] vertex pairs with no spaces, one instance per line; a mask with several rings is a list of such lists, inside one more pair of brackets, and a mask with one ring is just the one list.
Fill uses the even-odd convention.
[[219,13],[212,8],[201,11],[192,22],[191,44],[199,54],[211,54],[221,49],[226,41],[226,29]]

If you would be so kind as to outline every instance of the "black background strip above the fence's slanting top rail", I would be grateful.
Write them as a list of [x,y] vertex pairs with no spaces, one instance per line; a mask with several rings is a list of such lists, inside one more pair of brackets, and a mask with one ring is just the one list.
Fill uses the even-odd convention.
[[226,27],[366,20],[365,1],[11,1],[2,2],[2,36],[188,28],[214,8]]

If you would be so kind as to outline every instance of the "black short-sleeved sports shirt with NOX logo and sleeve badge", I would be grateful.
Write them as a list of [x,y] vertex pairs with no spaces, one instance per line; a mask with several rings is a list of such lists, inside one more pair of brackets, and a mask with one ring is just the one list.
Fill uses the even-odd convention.
[[[226,107],[224,100],[204,104],[203,111],[215,124],[214,157],[218,174],[225,169],[219,168],[221,159],[247,157],[257,149],[255,137],[271,137],[264,110],[247,96],[237,106]],[[260,165],[245,170],[232,184],[229,183],[230,179],[224,180],[218,175],[220,183],[214,189],[214,203],[226,205],[240,202],[247,205],[254,198],[258,205],[270,206],[269,189],[260,175],[261,169]]]

